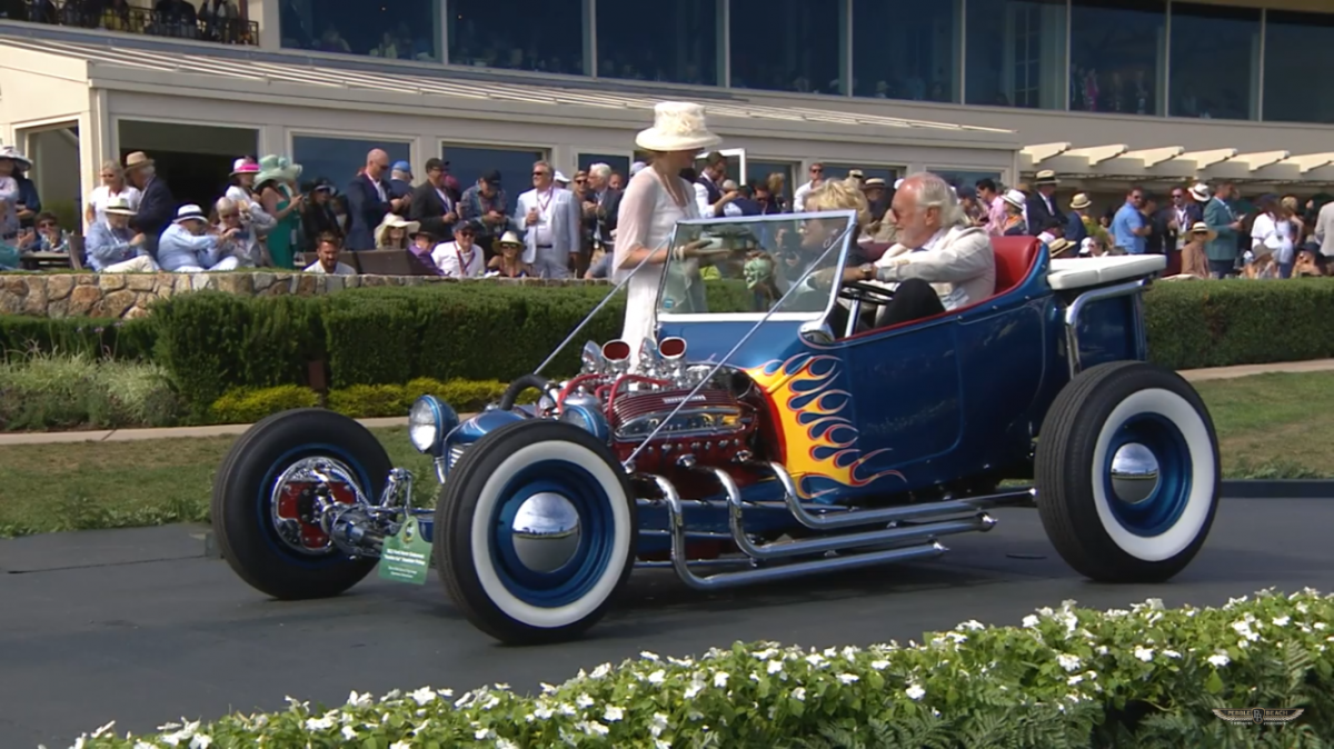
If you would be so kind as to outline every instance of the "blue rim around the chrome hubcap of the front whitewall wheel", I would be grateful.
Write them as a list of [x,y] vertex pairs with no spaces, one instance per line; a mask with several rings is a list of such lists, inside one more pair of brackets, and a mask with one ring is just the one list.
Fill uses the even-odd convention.
[[[579,545],[563,566],[552,572],[528,569],[514,545],[514,517],[523,502],[543,492],[563,496],[579,514]],[[558,608],[587,596],[607,574],[615,550],[616,520],[611,497],[592,473],[564,460],[524,466],[500,489],[491,514],[491,562],[506,589],[520,601]]]

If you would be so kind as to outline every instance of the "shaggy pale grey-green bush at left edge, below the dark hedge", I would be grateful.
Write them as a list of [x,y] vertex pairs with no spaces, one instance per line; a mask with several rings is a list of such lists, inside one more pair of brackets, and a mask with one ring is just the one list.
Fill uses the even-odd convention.
[[0,363],[0,429],[169,426],[181,400],[155,364],[92,355],[35,355]]

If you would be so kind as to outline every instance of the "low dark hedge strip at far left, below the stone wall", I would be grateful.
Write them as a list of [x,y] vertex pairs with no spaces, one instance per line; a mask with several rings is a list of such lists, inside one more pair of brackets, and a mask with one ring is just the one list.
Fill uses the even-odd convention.
[[147,361],[153,352],[153,333],[148,320],[0,315],[0,361],[29,353]]

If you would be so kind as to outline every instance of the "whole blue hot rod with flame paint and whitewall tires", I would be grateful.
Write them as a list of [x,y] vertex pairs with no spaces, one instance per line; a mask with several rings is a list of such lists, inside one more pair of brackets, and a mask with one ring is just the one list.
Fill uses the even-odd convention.
[[[265,418],[217,472],[223,556],[277,598],[335,596],[378,564],[418,564],[420,582],[430,564],[506,642],[583,632],[635,566],[707,590],[928,558],[1011,504],[1035,505],[1093,580],[1183,569],[1219,461],[1198,394],[1146,363],[1141,292],[1165,259],[1054,260],[995,239],[994,296],[879,325],[892,288],[830,283],[850,255],[883,252],[848,239],[854,221],[684,221],[672,243],[703,259],[635,269],[662,276],[648,340],[588,343],[563,381],[542,374],[552,353],[467,418],[420,398],[410,434],[434,457],[432,509],[356,421]],[[827,241],[794,241],[815,225]],[[532,388],[540,400],[516,405]]]

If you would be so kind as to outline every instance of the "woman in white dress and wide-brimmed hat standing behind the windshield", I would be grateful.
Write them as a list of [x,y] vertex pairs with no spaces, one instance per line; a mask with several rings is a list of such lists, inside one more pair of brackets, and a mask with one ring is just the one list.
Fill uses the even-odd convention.
[[[638,367],[644,339],[652,335],[654,304],[670,257],[672,229],[683,219],[699,219],[695,188],[680,177],[680,171],[692,165],[700,151],[719,143],[722,139],[708,132],[704,123],[704,108],[683,101],[658,104],[654,127],[635,137],[635,144],[650,152],[652,163],[630,177],[626,185],[616,213],[612,255],[612,279],[616,283],[644,263],[627,285],[622,339],[630,344],[632,367]],[[707,240],[690,243],[679,252],[691,257],[707,244]]]

